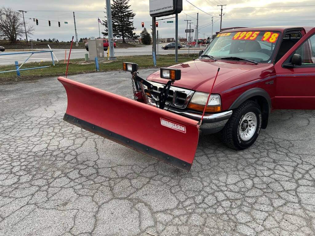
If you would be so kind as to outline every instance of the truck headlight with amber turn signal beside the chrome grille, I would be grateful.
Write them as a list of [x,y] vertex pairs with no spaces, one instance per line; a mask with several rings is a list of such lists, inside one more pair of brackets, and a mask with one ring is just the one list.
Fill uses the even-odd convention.
[[[198,111],[203,111],[207,102],[209,93],[195,92],[188,104],[188,108]],[[221,111],[221,98],[220,95],[212,94],[209,98],[206,112],[219,112]]]

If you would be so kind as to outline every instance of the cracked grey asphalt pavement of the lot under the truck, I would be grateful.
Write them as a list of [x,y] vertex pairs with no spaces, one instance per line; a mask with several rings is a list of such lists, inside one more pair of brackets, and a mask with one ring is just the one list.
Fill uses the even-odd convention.
[[[69,78],[132,97],[123,71]],[[63,121],[55,77],[0,101],[0,235],[315,235],[315,111],[272,113],[243,151],[201,136],[186,173]]]

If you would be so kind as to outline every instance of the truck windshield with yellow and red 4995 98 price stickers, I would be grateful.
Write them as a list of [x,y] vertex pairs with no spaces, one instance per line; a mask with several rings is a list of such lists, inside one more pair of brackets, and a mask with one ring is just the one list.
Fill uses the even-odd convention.
[[259,63],[271,63],[280,32],[241,31],[218,34],[202,55],[215,59],[240,57]]

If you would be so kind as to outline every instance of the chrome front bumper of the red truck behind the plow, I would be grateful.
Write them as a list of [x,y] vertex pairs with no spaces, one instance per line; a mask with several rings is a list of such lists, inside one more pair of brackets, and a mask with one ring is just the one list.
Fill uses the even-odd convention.
[[[149,102],[153,106],[156,106],[156,104],[152,102],[151,98],[149,98]],[[178,115],[185,116],[195,121],[200,121],[202,117],[202,114],[194,113],[192,111],[182,110],[175,107],[169,107],[168,105],[166,105],[164,110],[173,112]],[[223,112],[214,113],[214,114],[205,114],[203,116],[203,122],[200,126],[200,130],[202,131],[202,134],[211,134],[211,133],[219,132],[221,129],[223,129],[226,122],[230,119],[231,115],[232,115],[232,110],[223,111]]]

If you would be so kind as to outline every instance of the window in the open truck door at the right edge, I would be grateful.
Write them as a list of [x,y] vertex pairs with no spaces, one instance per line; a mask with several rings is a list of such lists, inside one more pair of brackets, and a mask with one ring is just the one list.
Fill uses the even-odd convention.
[[315,34],[307,39],[295,53],[300,54],[302,57],[303,65],[315,65]]

